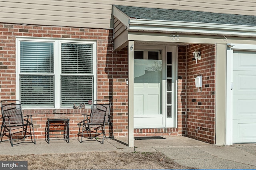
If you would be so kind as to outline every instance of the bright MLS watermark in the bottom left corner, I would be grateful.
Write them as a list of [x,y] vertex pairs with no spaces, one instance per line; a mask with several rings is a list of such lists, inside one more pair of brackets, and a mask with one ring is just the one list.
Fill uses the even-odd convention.
[[0,170],[28,170],[28,161],[0,161]]

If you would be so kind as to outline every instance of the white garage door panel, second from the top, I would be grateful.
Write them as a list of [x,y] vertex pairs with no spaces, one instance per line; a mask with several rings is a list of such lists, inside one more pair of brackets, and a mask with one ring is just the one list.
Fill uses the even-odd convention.
[[256,95],[256,71],[233,71],[233,95]]

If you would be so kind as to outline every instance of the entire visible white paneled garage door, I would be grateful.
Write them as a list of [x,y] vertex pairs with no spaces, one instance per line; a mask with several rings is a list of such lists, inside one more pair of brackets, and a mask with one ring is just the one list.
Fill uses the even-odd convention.
[[256,142],[256,51],[234,51],[233,85],[233,143]]

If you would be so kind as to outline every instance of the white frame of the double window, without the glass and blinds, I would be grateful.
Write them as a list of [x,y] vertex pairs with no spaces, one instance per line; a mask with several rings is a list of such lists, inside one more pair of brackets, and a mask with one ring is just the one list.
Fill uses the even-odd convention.
[[[96,40],[77,40],[77,39],[53,39],[53,38],[31,38],[20,37],[16,38],[16,99],[20,100],[20,42],[52,42],[54,43],[54,107],[28,107],[23,108],[33,109],[70,109],[70,107],[61,107],[61,43],[84,43],[92,44],[92,76],[93,76],[93,100],[97,99],[97,42]],[[80,104],[80,103],[76,103]]]

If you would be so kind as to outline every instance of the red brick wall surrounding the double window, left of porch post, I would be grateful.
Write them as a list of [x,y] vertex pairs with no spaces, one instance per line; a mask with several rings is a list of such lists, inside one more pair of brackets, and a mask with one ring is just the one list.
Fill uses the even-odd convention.
[[[113,51],[112,30],[0,24],[0,100],[16,99],[16,36],[97,40],[97,96],[98,99],[113,101],[114,135],[127,135],[127,49]],[[48,117],[68,117],[70,138],[77,138],[77,123],[83,120],[82,113],[87,113],[87,110],[24,110],[25,115],[34,115],[33,122],[37,139],[45,138]]]

